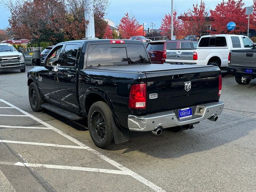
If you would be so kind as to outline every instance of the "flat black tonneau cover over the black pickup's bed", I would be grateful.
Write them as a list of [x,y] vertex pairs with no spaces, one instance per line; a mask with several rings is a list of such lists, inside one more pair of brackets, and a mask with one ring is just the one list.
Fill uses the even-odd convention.
[[191,69],[191,68],[207,68],[207,67],[214,67],[214,66],[143,64],[143,65],[124,65],[124,66],[102,66],[102,67],[93,67],[93,68],[97,70],[111,70],[111,71],[124,71],[124,72],[154,72],[154,71],[184,70],[184,69]]

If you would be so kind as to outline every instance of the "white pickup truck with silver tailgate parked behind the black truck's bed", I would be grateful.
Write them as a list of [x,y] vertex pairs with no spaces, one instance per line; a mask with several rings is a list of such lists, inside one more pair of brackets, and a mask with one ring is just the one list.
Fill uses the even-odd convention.
[[198,64],[228,66],[230,50],[250,49],[254,43],[243,35],[206,35],[202,36],[196,49],[166,50],[164,64]]

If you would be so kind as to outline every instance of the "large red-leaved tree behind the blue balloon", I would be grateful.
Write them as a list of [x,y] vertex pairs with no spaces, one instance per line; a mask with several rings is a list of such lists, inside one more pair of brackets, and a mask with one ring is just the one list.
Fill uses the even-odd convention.
[[[212,25],[216,29],[212,34],[240,34],[247,31],[248,21],[243,0],[222,0],[215,10],[210,10],[210,13],[214,20]],[[236,29],[229,31],[227,24],[231,21],[236,23]]]

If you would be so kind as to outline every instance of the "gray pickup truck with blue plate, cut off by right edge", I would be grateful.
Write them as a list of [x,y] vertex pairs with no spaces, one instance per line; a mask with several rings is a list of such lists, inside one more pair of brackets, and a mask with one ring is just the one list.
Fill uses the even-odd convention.
[[235,75],[238,84],[250,83],[256,78],[256,49],[230,51],[227,71]]

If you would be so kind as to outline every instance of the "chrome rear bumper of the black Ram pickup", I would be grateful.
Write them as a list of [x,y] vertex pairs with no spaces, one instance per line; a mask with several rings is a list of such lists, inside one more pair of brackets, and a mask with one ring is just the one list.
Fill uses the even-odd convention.
[[[192,117],[181,120],[178,119],[175,113],[175,111],[177,110],[159,112],[145,116],[128,115],[128,128],[130,131],[152,131],[159,126],[161,126],[162,128],[169,128],[193,124],[196,122],[200,122],[204,119],[208,119],[212,117],[214,114],[221,114],[224,108],[224,102],[211,102],[207,104],[198,105],[195,107],[196,110]],[[197,112],[199,107],[203,108],[202,113]]]

